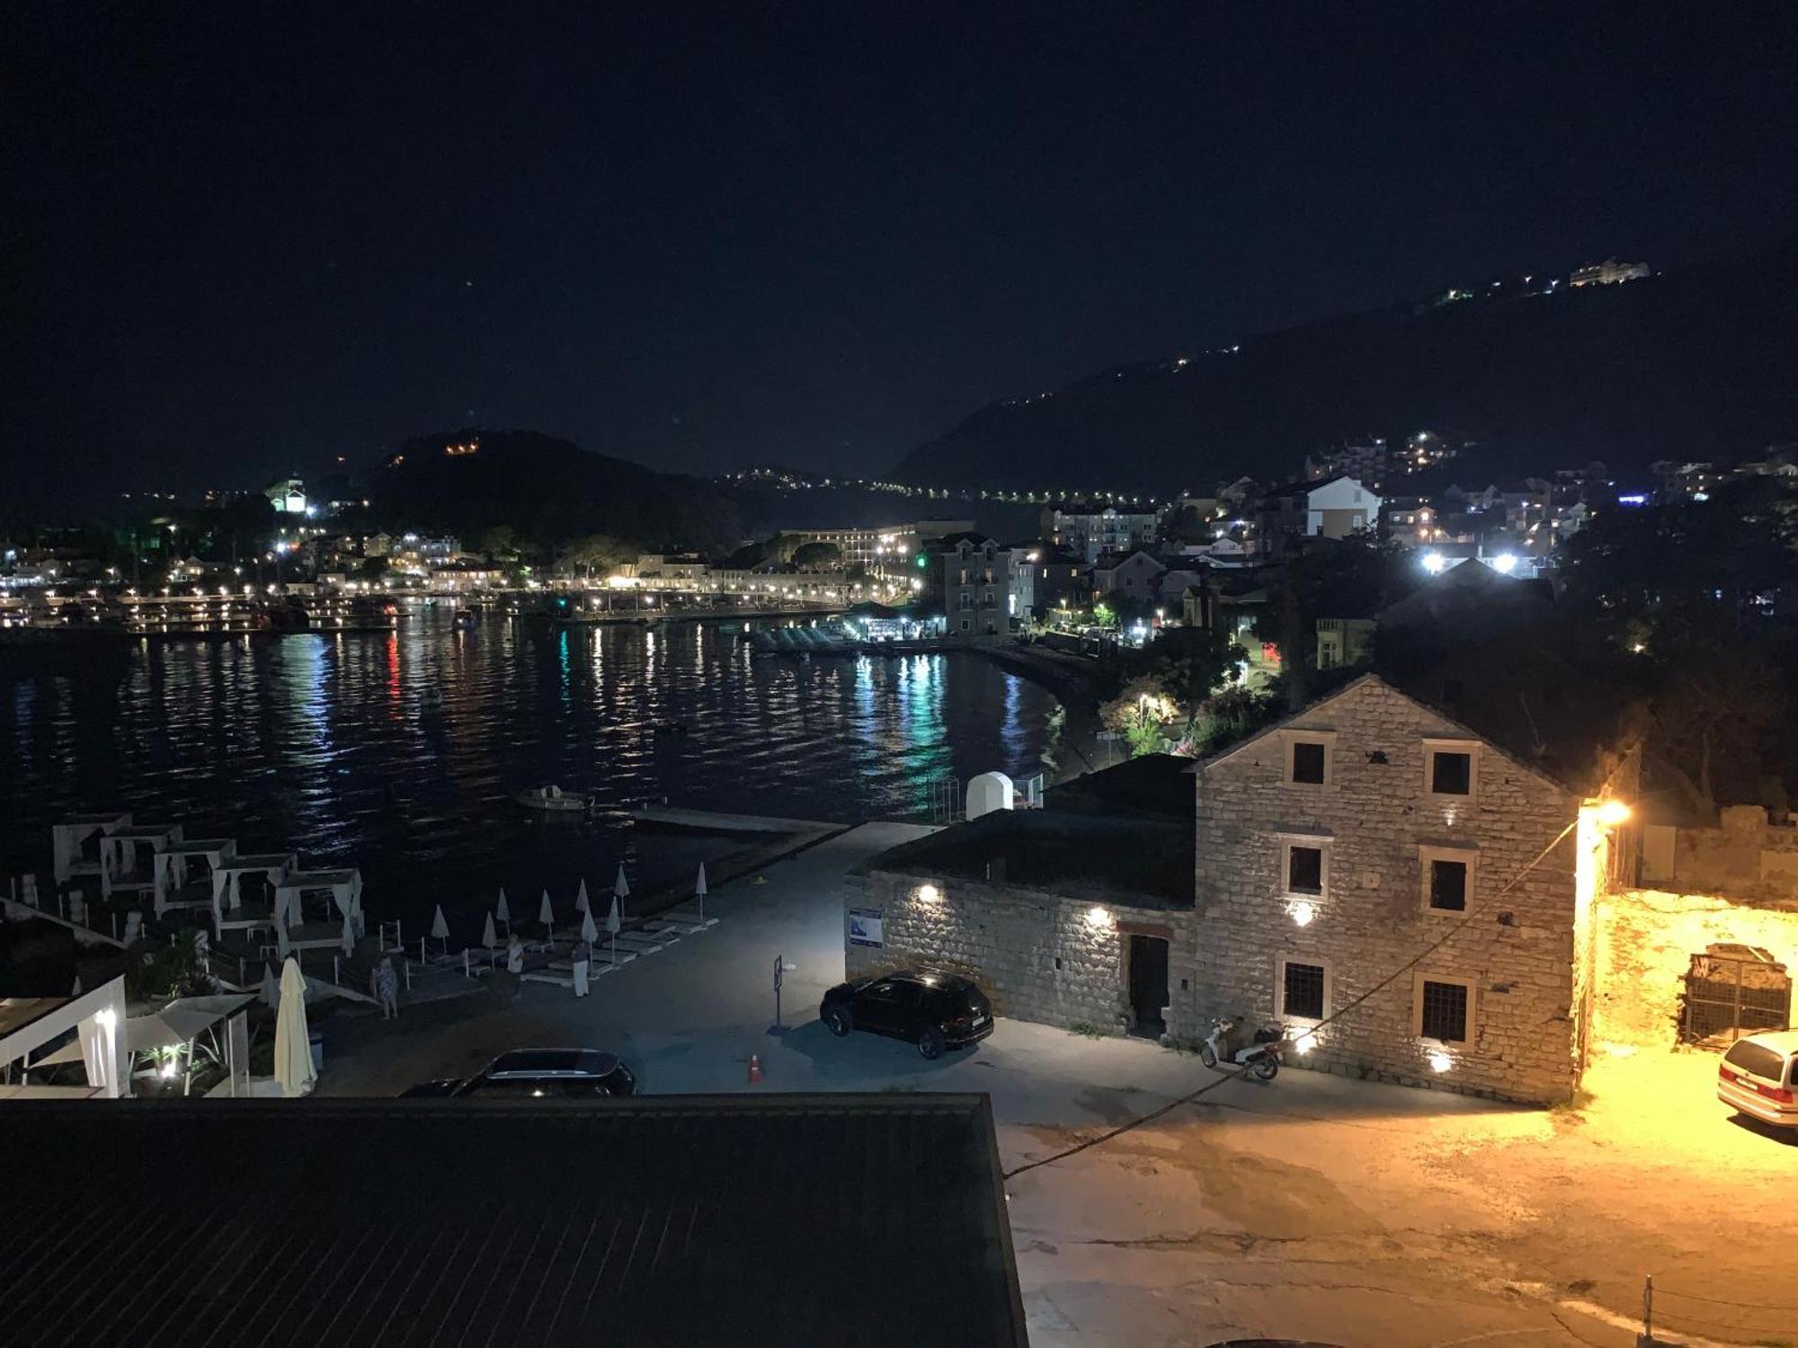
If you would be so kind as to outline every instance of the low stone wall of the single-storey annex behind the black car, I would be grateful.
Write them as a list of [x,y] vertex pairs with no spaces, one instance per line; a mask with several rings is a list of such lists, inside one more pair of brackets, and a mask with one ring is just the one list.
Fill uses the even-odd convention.
[[[879,949],[849,944],[849,909],[881,915]],[[1192,978],[1190,911],[1093,904],[991,881],[868,872],[850,875],[843,895],[849,978],[908,963],[937,963],[973,978],[998,1015],[1045,1024],[1129,1026],[1129,931],[1169,936],[1169,987],[1176,1007]],[[1181,951],[1188,956],[1181,962]],[[1170,1035],[1190,1026],[1170,1012]]]

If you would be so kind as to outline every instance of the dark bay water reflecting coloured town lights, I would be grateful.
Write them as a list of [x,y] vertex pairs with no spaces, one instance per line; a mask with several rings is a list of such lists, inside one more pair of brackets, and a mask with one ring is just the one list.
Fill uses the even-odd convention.
[[[924,820],[933,778],[1039,771],[1055,706],[978,656],[752,660],[741,625],[455,631],[421,607],[392,634],[140,643],[122,679],[0,679],[0,856],[47,872],[56,818],[120,807],[361,866],[376,915],[444,902],[462,926],[502,882],[520,915],[543,886],[572,911],[620,859],[640,890],[721,850],[638,848],[645,800]],[[597,818],[512,800],[550,782]]]

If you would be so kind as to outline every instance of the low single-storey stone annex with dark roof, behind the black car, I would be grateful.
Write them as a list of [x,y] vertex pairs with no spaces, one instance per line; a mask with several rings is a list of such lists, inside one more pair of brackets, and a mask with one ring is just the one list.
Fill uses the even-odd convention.
[[1190,760],[1135,758],[883,852],[849,877],[845,965],[967,974],[1000,1015],[1188,1039]]

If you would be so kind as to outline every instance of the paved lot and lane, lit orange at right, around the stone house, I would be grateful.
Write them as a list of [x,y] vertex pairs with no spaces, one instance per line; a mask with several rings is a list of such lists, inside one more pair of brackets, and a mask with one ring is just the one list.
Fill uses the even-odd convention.
[[[840,877],[915,832],[865,825],[762,884],[723,886],[717,927],[599,980],[586,1001],[527,985],[509,1007],[363,1026],[320,1089],[392,1095],[520,1044],[579,1042],[619,1051],[658,1093],[987,1091],[1012,1168],[1212,1077],[1140,1041],[1014,1021],[937,1062],[832,1039],[816,1007],[841,978]],[[791,1028],[771,1033],[782,953],[797,965]],[[1713,1075],[1708,1055],[1600,1053],[1591,1102],[1553,1113],[1307,1071],[1230,1082],[1010,1181],[1032,1343],[1622,1348],[1654,1274],[1660,1317],[1685,1341],[1798,1344],[1798,1145],[1730,1122]]]

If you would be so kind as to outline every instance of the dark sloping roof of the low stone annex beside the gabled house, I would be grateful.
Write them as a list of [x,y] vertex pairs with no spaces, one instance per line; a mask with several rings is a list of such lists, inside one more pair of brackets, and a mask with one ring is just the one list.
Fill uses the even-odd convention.
[[859,870],[991,881],[1072,899],[1192,908],[1190,758],[1149,755],[868,857]]

